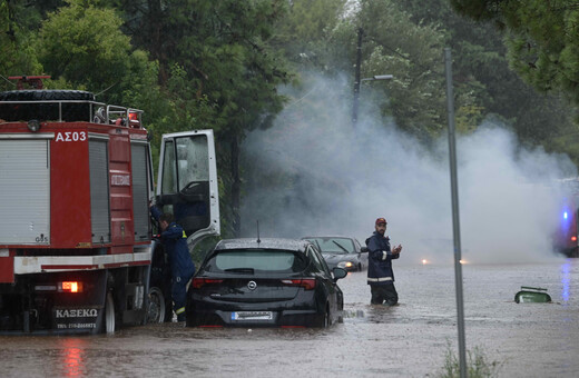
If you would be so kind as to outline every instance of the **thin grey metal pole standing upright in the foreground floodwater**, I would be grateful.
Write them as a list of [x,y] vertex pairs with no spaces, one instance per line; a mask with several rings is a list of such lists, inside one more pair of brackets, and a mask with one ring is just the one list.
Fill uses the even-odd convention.
[[457,324],[459,326],[460,376],[467,378],[467,346],[464,341],[464,304],[462,298],[462,265],[460,248],[459,187],[457,182],[457,146],[454,143],[454,94],[452,93],[452,58],[444,49],[446,68],[446,105],[449,117],[450,182],[452,196],[452,232],[454,235],[454,284],[457,286]]

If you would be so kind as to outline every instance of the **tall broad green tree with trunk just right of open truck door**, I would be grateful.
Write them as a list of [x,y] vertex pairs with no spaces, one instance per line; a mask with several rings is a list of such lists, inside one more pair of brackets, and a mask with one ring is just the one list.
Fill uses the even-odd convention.
[[239,143],[248,130],[272,123],[284,101],[277,86],[291,78],[269,46],[286,1],[111,1],[122,9],[134,43],[158,60],[159,82],[170,86],[178,111],[195,116],[178,128],[215,130],[224,230],[238,235]]

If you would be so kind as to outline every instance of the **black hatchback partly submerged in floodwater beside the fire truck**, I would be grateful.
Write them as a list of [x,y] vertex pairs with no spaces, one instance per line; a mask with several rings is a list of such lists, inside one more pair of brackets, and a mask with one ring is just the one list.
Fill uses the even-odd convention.
[[327,327],[342,321],[346,275],[306,240],[222,240],[192,280],[186,325]]

